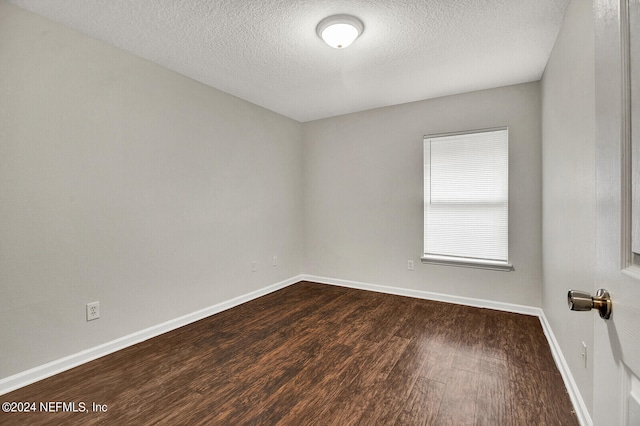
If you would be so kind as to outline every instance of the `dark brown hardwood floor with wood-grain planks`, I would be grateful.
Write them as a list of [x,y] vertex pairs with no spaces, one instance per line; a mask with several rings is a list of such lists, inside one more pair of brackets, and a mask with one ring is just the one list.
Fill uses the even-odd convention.
[[5,401],[89,411],[16,425],[578,424],[538,318],[308,282]]

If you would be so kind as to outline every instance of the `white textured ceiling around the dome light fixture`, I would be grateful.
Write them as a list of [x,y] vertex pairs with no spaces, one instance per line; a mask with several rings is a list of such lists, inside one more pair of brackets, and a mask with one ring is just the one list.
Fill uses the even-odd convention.
[[[309,121],[540,79],[569,0],[10,0]],[[336,50],[315,29],[359,17]]]

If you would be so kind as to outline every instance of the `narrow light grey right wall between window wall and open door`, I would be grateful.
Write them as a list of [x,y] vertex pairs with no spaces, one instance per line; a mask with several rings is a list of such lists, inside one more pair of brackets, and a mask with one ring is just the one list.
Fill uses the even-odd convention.
[[[595,292],[595,68],[591,1],[573,0],[542,78],[542,308],[582,398],[593,406],[597,315],[571,312],[569,289]],[[599,320],[599,318],[598,318]]]

